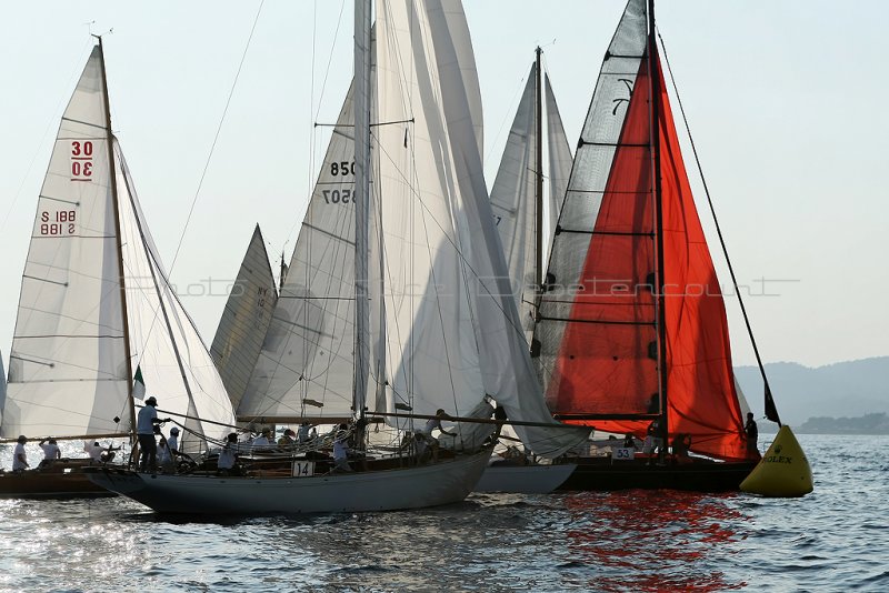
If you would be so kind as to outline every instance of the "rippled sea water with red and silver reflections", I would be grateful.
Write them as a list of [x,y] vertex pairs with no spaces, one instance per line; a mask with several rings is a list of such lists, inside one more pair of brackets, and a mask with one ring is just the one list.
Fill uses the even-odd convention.
[[889,591],[889,436],[798,438],[803,499],[473,494],[222,521],[4,500],[0,591]]

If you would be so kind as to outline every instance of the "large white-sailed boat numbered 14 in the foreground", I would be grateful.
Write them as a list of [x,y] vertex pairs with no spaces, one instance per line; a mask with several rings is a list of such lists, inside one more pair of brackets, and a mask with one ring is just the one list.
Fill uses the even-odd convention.
[[[414,509],[472,490],[490,456],[487,399],[520,415],[533,368],[508,290],[487,284],[506,264],[483,185],[478,80],[462,7],[444,4],[379,2],[371,76],[370,4],[356,2],[353,86],[237,415],[349,422],[359,450],[434,416],[457,436],[441,436],[431,463],[399,439],[368,445],[350,472],[296,448],[278,478],[101,470],[97,483],[171,513]],[[542,449],[576,442],[541,398],[528,401],[540,425],[526,430]]]

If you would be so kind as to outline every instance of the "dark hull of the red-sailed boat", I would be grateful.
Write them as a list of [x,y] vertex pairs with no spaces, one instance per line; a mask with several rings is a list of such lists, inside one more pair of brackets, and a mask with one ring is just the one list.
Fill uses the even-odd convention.
[[682,464],[649,465],[645,460],[615,461],[582,458],[558,490],[686,490],[730,492],[740,489],[756,462],[719,463],[708,460]]

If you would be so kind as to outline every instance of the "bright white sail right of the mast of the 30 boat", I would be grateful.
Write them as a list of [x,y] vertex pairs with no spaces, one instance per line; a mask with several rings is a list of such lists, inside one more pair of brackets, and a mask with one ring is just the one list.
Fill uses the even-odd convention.
[[167,279],[117,142],[114,157],[132,366],[141,368],[147,393],[158,399],[159,415],[184,425],[180,451],[196,453],[207,449],[204,436],[218,440],[230,431],[231,402]]

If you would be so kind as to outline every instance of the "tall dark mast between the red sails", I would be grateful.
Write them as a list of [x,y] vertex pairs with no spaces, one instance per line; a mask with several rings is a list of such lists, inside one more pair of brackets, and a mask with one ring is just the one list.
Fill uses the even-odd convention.
[[656,241],[657,241],[657,328],[658,328],[658,389],[660,392],[660,435],[663,446],[660,455],[663,456],[667,446],[669,426],[667,424],[667,326],[663,295],[663,200],[661,199],[660,180],[660,61],[658,58],[658,43],[655,36],[655,0],[648,0],[648,77],[651,81],[651,169],[652,190],[655,192],[656,210]]

